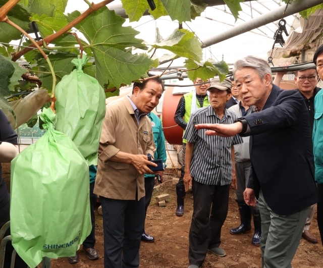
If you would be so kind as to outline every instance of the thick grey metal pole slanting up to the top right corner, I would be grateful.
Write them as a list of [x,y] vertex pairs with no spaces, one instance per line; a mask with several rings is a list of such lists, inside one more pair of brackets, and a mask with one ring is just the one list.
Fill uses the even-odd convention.
[[[312,8],[314,6],[317,6],[319,4],[323,4],[323,0],[295,0],[293,4],[289,5],[285,17],[293,15],[295,13],[298,13],[300,11]],[[227,40],[229,38],[235,37],[239,34],[248,32],[250,30],[253,30],[255,28],[258,28],[260,26],[263,26],[267,23],[271,23],[273,21],[277,21],[283,17],[284,10],[286,8],[286,5],[279,7],[275,10],[272,10],[270,12],[264,13],[263,15],[251,19],[250,21],[247,21],[245,23],[241,23],[233,28],[230,29],[230,31],[225,31],[222,33],[219,33],[217,35],[214,35],[206,40],[203,40],[202,47],[207,47],[212,44],[216,44],[219,42],[222,42],[224,40]]]

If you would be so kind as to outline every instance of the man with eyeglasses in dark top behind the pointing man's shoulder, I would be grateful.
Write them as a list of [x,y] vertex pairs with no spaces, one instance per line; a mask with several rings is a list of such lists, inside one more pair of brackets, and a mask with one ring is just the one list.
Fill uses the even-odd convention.
[[[284,63],[279,66],[288,66],[291,65],[290,63]],[[274,84],[279,86],[283,75],[286,74],[285,72],[279,72],[276,74]],[[295,73],[295,84],[297,85],[297,91],[301,93],[302,97],[304,98],[305,104],[308,109],[309,114],[309,125],[311,127],[311,133],[313,132],[313,124],[314,124],[314,98],[317,94],[317,92],[320,90],[318,88],[317,82],[318,82],[318,75],[316,71],[316,67],[313,66],[311,68],[307,68],[305,70],[300,70]],[[313,220],[314,211],[315,211],[315,205],[311,205],[311,208],[309,210],[306,223],[304,226],[302,237],[310,242],[310,243],[317,243],[318,240],[315,236],[313,236],[309,232],[309,227],[311,225],[311,222]]]

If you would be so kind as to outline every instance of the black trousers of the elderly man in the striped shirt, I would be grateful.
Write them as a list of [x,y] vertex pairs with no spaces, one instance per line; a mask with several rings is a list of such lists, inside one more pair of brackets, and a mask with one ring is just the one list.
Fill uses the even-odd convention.
[[188,259],[190,264],[201,266],[207,249],[221,244],[221,228],[229,208],[230,184],[206,185],[193,180],[192,190],[194,199]]

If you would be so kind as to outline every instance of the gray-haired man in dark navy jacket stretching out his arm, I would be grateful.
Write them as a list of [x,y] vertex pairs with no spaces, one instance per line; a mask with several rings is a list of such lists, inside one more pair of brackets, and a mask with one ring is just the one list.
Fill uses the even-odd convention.
[[245,202],[259,203],[262,267],[291,267],[309,208],[319,198],[314,182],[308,111],[294,90],[272,84],[270,66],[246,57],[233,69],[244,102],[252,114],[231,125],[205,124],[208,135],[250,138],[251,173]]

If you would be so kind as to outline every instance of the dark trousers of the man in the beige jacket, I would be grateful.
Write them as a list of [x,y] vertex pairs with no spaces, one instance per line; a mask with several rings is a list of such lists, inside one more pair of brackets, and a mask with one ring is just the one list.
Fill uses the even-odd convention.
[[117,200],[100,196],[104,233],[104,268],[139,267],[145,197]]

